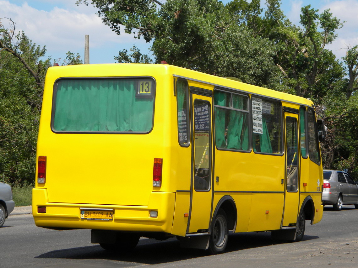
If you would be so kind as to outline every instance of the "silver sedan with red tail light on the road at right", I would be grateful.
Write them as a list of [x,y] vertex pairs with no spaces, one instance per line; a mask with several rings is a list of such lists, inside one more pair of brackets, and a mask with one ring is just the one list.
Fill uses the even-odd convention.
[[342,205],[358,208],[358,184],[347,172],[324,169],[322,202],[335,210],[341,210]]

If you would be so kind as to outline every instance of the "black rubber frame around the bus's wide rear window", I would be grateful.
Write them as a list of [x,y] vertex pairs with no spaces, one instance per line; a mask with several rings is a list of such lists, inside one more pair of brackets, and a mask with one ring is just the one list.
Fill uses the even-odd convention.
[[[153,114],[152,114],[152,126],[149,131],[58,131],[54,128],[54,117],[55,117],[55,109],[56,109],[56,97],[57,97],[57,85],[61,80],[88,80],[88,79],[98,79],[98,80],[106,80],[106,79],[151,79],[153,80]],[[65,76],[57,78],[53,83],[53,91],[52,91],[52,106],[51,106],[51,121],[50,127],[51,131],[56,134],[149,134],[154,128],[154,115],[155,115],[155,99],[156,99],[156,80],[153,76],[150,75],[142,75],[142,76],[83,76],[83,77],[73,77],[73,76]]]

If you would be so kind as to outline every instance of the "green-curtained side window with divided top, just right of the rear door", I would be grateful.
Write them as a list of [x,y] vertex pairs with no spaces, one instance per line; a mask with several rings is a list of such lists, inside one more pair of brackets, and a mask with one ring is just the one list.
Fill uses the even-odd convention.
[[215,90],[214,105],[216,147],[249,151],[248,97]]

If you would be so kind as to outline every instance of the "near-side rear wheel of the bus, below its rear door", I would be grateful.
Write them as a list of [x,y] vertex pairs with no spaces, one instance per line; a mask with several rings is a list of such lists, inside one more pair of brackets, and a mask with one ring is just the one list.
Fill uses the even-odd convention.
[[209,249],[212,254],[219,254],[225,251],[228,236],[227,216],[223,209],[219,209],[213,220],[209,237]]

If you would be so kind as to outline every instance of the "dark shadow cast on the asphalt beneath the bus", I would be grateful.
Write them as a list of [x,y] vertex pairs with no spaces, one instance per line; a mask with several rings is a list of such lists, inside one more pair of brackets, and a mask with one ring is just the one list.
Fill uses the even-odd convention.
[[[316,238],[318,237],[305,235],[303,240]],[[287,242],[272,240],[270,232],[237,233],[229,236],[226,252],[260,248],[282,243]],[[179,241],[175,238],[170,238],[164,241],[141,239],[134,250],[126,252],[111,252],[102,249],[100,245],[92,245],[88,247],[54,250],[35,258],[102,259],[142,264],[160,264],[205,257],[208,255],[210,255],[208,250],[180,248]]]

